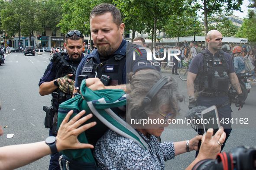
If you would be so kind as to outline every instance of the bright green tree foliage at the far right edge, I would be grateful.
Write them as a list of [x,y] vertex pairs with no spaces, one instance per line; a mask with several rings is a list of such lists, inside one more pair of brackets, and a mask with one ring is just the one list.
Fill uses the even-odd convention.
[[236,37],[248,38],[249,42],[256,42],[256,15],[252,10],[249,10],[248,13],[250,18],[243,19],[243,24]]

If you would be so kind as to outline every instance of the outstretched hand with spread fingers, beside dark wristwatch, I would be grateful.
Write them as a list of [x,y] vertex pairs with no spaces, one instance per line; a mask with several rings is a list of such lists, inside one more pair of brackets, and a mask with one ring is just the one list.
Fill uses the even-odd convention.
[[88,114],[87,116],[84,116],[83,118],[79,119],[85,113],[85,110],[82,110],[71,120],[69,120],[72,113],[73,110],[68,112],[67,116],[62,121],[62,124],[58,129],[58,135],[56,136],[57,150],[62,151],[65,149],[94,148],[93,145],[80,143],[77,139],[78,135],[81,132],[84,132],[85,130],[96,125],[96,122],[92,122],[81,126],[81,124],[83,124],[92,117],[92,114]]

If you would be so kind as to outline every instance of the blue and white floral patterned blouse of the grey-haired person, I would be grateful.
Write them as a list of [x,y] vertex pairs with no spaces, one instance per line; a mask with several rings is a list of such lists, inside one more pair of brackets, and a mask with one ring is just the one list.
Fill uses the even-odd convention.
[[94,149],[97,166],[102,170],[164,170],[165,161],[175,157],[173,142],[159,143],[154,135],[139,135],[149,151],[109,129]]

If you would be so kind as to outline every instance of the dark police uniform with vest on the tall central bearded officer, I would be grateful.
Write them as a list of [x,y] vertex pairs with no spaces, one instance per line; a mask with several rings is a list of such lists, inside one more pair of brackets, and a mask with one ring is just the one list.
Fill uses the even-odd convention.
[[[129,79],[126,79],[126,72],[137,72],[140,69],[155,69],[155,66],[149,61],[146,61],[146,57],[139,57],[139,55],[136,54],[136,61],[134,61],[132,50],[127,52],[126,55],[127,46],[128,42],[123,40],[120,47],[113,54],[108,56],[108,58],[101,57],[98,50],[94,50],[91,54],[84,57],[77,69],[75,87],[78,87],[78,76],[80,75],[87,75],[88,78],[97,77],[99,79],[101,75],[106,75],[112,79],[111,85],[121,85],[129,82]],[[134,46],[136,46],[136,44],[134,44]],[[146,50],[140,51],[142,56],[146,56]],[[145,64],[139,65],[139,62]],[[100,122],[96,116],[88,120],[88,123],[94,121],[97,122],[96,126],[87,129],[85,135],[88,143],[95,146],[96,142],[104,135],[108,128]]]

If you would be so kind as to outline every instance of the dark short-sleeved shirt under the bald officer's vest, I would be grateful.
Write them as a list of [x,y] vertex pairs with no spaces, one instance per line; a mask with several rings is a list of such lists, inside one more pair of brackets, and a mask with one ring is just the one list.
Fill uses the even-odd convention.
[[[206,48],[205,51],[213,57],[213,54]],[[219,56],[219,53],[220,51],[217,51],[217,53],[214,55],[214,57],[218,57]],[[189,66],[189,69],[188,71],[189,72],[192,72],[194,74],[202,74],[204,72],[203,70],[203,66],[204,66],[204,55],[199,53],[198,55],[196,55],[193,59],[193,62],[191,63],[191,65]],[[228,69],[228,74],[232,73],[232,72],[235,72],[235,68],[234,68],[234,65],[233,65],[233,61],[232,61],[232,58],[230,56],[230,54],[228,53],[225,53],[224,52],[224,57],[225,57],[225,60],[226,60],[226,65],[227,65],[227,69]]]

